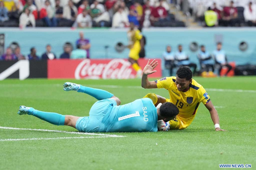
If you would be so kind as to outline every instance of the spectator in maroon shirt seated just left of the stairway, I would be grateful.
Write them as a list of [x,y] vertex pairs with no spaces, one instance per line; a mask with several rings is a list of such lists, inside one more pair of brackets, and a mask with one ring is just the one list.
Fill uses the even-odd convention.
[[155,21],[168,21],[168,13],[166,9],[163,7],[163,0],[159,1],[159,6],[156,7],[154,10],[151,12],[150,19],[152,22]]

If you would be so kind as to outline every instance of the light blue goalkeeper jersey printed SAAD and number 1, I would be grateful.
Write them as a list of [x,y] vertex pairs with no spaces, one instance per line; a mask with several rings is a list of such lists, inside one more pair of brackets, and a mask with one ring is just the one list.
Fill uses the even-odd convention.
[[100,131],[157,132],[157,109],[149,98],[114,106],[102,120]]

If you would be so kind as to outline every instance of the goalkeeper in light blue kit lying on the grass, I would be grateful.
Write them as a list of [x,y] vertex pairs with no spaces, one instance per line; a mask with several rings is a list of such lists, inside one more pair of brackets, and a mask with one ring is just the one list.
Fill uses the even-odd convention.
[[61,115],[25,106],[20,106],[18,114],[33,115],[54,125],[72,126],[80,132],[156,132],[158,120],[168,122],[179,112],[170,102],[163,103],[159,109],[150,98],[120,105],[119,98],[108,91],[70,82],[64,83],[63,86],[65,91],[86,93],[99,100],[91,107],[89,116]]

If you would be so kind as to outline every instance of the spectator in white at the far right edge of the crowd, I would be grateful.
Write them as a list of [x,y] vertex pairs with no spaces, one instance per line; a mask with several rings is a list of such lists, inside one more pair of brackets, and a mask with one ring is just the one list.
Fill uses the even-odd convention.
[[256,9],[255,6],[252,5],[252,2],[244,8],[243,15],[249,26],[256,26]]

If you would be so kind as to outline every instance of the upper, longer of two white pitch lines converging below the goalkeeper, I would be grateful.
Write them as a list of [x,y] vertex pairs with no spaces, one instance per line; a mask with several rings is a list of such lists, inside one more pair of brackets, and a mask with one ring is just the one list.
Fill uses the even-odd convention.
[[98,135],[98,136],[107,136],[107,137],[125,137],[121,135],[107,135],[100,133],[88,133],[88,132],[68,132],[61,130],[48,130],[48,129],[28,129],[28,128],[16,128],[16,127],[3,127],[0,126],[0,129],[13,129],[13,130],[34,130],[34,131],[44,131],[44,132],[58,132],[58,133],[69,133],[69,134],[80,134],[80,135]]

